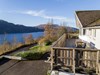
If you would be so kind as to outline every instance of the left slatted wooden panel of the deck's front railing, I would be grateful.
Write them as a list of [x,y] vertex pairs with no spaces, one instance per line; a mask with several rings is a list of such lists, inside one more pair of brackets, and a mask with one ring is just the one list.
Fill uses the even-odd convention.
[[75,50],[64,47],[53,47],[54,65],[61,65],[62,67],[70,67],[75,72]]

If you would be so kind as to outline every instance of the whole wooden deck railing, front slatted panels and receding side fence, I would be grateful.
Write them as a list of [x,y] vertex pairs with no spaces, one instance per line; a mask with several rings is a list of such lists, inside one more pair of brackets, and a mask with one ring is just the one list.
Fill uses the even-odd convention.
[[67,48],[66,34],[62,35],[51,48],[51,69],[54,65],[68,67],[75,73],[75,67],[95,69],[100,74],[99,51],[97,49]]

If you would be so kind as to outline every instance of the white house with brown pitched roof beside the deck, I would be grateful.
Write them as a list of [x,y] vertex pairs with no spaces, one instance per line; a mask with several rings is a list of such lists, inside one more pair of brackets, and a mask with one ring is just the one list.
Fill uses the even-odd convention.
[[100,10],[76,11],[75,18],[79,38],[100,49]]

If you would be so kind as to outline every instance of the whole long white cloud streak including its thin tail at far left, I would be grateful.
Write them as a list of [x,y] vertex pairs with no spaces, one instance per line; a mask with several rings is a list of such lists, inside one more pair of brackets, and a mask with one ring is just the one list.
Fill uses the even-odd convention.
[[[3,12],[4,13],[4,12]],[[28,11],[7,11],[6,13],[17,13],[17,14],[25,14],[30,15],[33,17],[41,17],[44,19],[53,19],[53,20],[59,20],[61,22],[67,22],[67,23],[74,23],[73,19],[64,17],[64,16],[50,16],[47,15],[47,12],[45,10],[28,10]]]

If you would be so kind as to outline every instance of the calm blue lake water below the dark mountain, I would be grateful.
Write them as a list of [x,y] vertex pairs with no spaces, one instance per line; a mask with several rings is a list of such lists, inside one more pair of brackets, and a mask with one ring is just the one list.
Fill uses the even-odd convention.
[[8,42],[12,42],[14,40],[14,37],[18,42],[23,42],[24,37],[27,37],[28,35],[32,35],[34,39],[41,37],[44,35],[43,32],[33,32],[33,33],[17,33],[17,34],[0,34],[0,44],[4,42],[4,40]]

